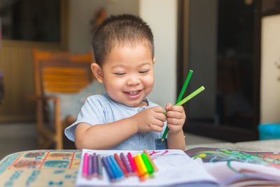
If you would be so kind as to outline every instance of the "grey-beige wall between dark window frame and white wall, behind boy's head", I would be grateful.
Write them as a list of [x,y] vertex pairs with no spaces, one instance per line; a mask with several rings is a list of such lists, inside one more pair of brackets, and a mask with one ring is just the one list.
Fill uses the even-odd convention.
[[87,53],[92,50],[90,21],[94,13],[105,8],[106,16],[120,13],[139,15],[139,0],[71,0],[69,19],[69,51]]

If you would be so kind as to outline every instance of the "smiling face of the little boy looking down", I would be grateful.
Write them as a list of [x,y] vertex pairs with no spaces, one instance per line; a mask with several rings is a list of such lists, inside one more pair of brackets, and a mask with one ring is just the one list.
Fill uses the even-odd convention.
[[143,99],[153,89],[154,62],[151,49],[144,44],[115,47],[103,63],[101,78],[97,79],[116,102],[141,107],[146,105]]

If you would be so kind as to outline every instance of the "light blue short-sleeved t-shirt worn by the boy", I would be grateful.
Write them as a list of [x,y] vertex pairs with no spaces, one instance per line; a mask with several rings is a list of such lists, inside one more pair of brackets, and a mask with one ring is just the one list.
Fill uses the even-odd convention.
[[[153,106],[158,106],[158,104],[150,102],[148,99],[146,99],[146,101],[148,102],[148,106],[143,106],[142,108],[139,108],[119,104],[118,102],[113,101],[113,99],[111,99],[107,94],[92,95],[90,97],[87,97],[85,104],[83,104],[82,109],[78,114],[76,122],[67,127],[64,130],[64,133],[66,137],[68,137],[71,141],[75,141],[74,135],[78,123],[88,123],[90,125],[113,123],[117,120],[134,116],[135,114],[139,113],[140,111],[143,111],[144,109]],[[162,132],[137,132],[137,134],[134,134],[132,137],[126,139],[122,143],[118,144],[118,146],[115,146],[111,149],[158,149],[159,147],[158,145],[156,146],[156,142],[160,142],[165,127],[166,122]],[[162,143],[165,144],[165,141]]]

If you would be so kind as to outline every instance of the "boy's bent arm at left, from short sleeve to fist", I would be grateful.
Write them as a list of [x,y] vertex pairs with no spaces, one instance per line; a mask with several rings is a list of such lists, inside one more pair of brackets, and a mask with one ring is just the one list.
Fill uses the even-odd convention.
[[109,149],[137,132],[162,132],[166,120],[164,109],[154,106],[113,123],[89,125],[79,123],[75,132],[76,148]]

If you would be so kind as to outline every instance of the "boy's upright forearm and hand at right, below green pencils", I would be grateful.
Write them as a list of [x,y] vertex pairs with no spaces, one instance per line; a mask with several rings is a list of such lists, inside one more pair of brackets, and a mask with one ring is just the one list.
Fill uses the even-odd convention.
[[167,148],[176,148],[186,150],[186,141],[183,134],[183,125],[186,120],[186,113],[183,106],[166,106],[167,126],[169,132],[167,135]]

